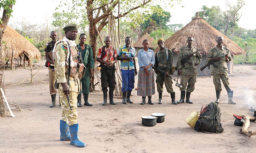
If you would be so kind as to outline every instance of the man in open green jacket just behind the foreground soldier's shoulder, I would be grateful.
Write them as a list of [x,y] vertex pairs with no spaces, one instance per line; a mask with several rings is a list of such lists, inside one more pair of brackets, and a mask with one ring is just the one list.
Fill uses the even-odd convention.
[[[93,71],[94,71],[93,50],[91,49],[90,45],[85,44],[86,37],[87,36],[85,33],[80,34],[80,37],[79,37],[80,43],[77,44],[77,48],[82,56],[82,62],[84,64],[84,66],[86,67],[84,77],[80,81],[82,82],[84,105],[93,106],[93,104],[90,104],[88,102],[90,76],[93,74]],[[82,97],[82,93],[80,92],[79,95],[77,96],[77,107],[82,107],[81,97]]]

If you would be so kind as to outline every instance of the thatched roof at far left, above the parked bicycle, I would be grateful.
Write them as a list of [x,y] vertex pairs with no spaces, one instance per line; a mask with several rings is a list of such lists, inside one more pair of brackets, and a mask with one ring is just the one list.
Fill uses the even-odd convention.
[[40,60],[41,54],[39,50],[31,44],[25,37],[17,31],[7,26],[3,34],[3,56],[11,58],[12,51],[14,57],[19,57],[20,54],[26,53],[32,59]]

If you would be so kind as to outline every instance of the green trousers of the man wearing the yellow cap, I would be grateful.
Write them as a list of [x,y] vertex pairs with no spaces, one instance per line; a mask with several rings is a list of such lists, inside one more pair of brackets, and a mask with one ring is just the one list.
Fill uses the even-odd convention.
[[157,92],[163,92],[163,83],[165,83],[165,87],[168,93],[173,93],[172,88],[172,79],[170,77],[165,77],[161,73],[157,73],[156,75],[156,86]]

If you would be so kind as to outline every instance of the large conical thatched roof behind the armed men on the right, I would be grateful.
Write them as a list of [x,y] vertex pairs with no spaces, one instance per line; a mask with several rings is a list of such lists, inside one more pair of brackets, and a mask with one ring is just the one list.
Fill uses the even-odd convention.
[[[198,13],[197,17],[165,41],[165,47],[174,52],[179,52],[181,47],[187,45],[187,38],[189,36],[194,38],[193,46],[200,49],[202,55],[208,55],[210,49],[217,45],[216,39],[218,36],[224,37],[223,46],[229,48],[232,55],[245,54],[242,48],[217,29],[210,26],[210,24],[198,16]],[[158,50],[159,47],[155,49],[155,51]]]

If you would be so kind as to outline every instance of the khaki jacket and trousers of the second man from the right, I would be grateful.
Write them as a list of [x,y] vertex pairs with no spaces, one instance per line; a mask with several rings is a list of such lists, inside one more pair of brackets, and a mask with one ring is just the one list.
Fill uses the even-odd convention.
[[197,67],[195,63],[199,65],[202,62],[202,55],[200,52],[195,53],[187,60],[188,62],[185,62],[185,67],[182,66],[181,60],[184,56],[196,51],[198,51],[196,47],[189,49],[188,46],[184,46],[180,49],[178,61],[176,64],[177,69],[181,69],[181,85],[183,88],[180,88],[180,91],[193,92],[195,90],[195,83],[197,79]]

